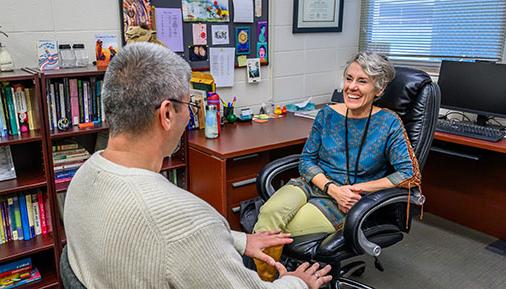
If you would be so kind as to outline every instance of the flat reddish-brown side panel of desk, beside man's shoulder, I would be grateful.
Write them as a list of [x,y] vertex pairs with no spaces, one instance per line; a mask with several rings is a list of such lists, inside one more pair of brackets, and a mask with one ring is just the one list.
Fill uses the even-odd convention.
[[189,148],[188,190],[227,218],[226,160]]

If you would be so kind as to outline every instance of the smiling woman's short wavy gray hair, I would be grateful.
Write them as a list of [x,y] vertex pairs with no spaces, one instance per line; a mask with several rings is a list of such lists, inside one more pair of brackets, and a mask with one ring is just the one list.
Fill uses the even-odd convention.
[[382,91],[395,77],[395,69],[392,63],[388,61],[388,58],[384,55],[362,51],[357,53],[348,63],[344,69],[344,77],[346,77],[346,71],[348,67],[356,62],[364,72],[374,81],[374,87],[378,91]]

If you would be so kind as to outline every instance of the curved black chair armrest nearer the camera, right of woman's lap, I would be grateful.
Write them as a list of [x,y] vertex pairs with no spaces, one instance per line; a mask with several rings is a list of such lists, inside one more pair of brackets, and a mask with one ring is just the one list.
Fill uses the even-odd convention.
[[[343,235],[346,243],[357,253],[367,253],[372,256],[381,254],[381,247],[367,240],[362,225],[369,215],[380,208],[394,203],[407,203],[409,191],[403,188],[392,188],[381,190],[366,195],[357,202],[348,212],[344,224]],[[410,202],[415,205],[422,205],[425,196],[418,188],[411,189]]]

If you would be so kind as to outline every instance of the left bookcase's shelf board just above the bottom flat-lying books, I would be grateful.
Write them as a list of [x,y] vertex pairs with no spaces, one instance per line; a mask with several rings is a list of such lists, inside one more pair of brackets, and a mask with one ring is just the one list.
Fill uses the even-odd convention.
[[0,263],[54,248],[52,235],[48,233],[28,241],[10,241],[0,245]]

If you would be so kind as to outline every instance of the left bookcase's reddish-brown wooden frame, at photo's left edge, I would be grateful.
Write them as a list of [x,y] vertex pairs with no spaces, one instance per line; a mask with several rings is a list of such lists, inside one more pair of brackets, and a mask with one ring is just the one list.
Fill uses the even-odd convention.
[[[9,147],[16,177],[0,181],[0,200],[6,202],[13,196],[26,196],[26,193],[40,191],[47,202],[48,221],[53,228],[47,234],[31,236],[29,240],[8,240],[4,230],[4,240],[0,244],[0,264],[15,261],[20,258],[30,257],[32,264],[42,274],[42,279],[19,288],[58,288],[57,258],[60,254],[56,220],[52,215],[55,212],[55,202],[50,187],[49,151],[47,147],[47,131],[45,126],[44,106],[41,102],[40,79],[37,73],[32,71],[15,70],[12,72],[0,72],[0,89],[2,89],[2,101],[7,97],[6,89],[21,86],[24,88],[25,101],[30,103],[28,114],[32,121],[29,122],[28,132],[16,134],[9,133],[0,137],[0,147]],[[16,98],[14,100],[16,101]],[[4,110],[2,110],[4,112]],[[16,112],[17,113],[17,112]],[[11,116],[11,115],[9,115]],[[2,121],[5,119],[2,116]],[[28,207],[28,206],[27,206]],[[2,210],[7,210],[7,207]],[[7,212],[7,211],[4,211]],[[5,215],[2,219],[5,224]],[[2,228],[3,230],[3,228]],[[12,237],[12,236],[11,236]]]

